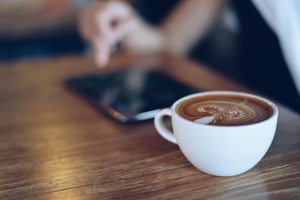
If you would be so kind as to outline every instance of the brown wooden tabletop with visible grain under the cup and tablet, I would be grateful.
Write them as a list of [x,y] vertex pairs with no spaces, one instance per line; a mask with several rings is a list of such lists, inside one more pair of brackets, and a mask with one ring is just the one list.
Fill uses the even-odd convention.
[[[119,55],[98,71],[128,63],[161,63],[202,90],[249,91],[170,56]],[[0,199],[300,199],[299,115],[277,104],[277,131],[262,160],[216,177],[193,167],[152,120],[120,124],[63,84],[95,70],[85,57],[0,67]]]

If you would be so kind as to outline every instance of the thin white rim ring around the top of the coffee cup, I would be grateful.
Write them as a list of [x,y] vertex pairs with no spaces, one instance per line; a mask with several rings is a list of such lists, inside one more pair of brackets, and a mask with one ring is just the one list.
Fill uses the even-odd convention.
[[[220,125],[208,125],[208,124],[198,124],[196,122],[193,122],[193,121],[189,121],[185,118],[183,118],[182,116],[178,115],[176,110],[175,110],[175,107],[176,105],[183,101],[183,100],[186,100],[186,99],[189,99],[189,98],[192,98],[192,97],[196,97],[196,96],[204,96],[204,95],[242,95],[242,96],[247,96],[247,97],[252,97],[252,98],[255,98],[255,99],[258,99],[258,100],[262,100],[263,102],[271,105],[271,107],[273,108],[273,115],[266,119],[266,120],[263,120],[263,121],[260,121],[260,122],[256,122],[256,123],[253,123],[253,124],[246,124],[246,125],[233,125],[233,126],[220,126]],[[253,125],[259,125],[259,124],[262,124],[262,123],[266,123],[267,121],[270,121],[272,120],[273,118],[275,118],[277,115],[278,115],[278,108],[277,106],[270,100],[266,99],[266,98],[263,98],[261,96],[258,96],[258,95],[253,95],[253,94],[250,94],[250,93],[246,93],[246,92],[237,92],[237,91],[227,91],[227,90],[216,90],[216,91],[206,91],[206,92],[198,92],[198,93],[194,93],[194,94],[191,94],[191,95],[187,95],[187,96],[184,96],[180,99],[178,99],[177,101],[175,101],[171,107],[171,111],[172,113],[177,116],[178,118],[184,120],[184,121],[187,121],[189,123],[192,123],[192,124],[196,124],[196,125],[199,125],[199,126],[206,126],[206,127],[222,127],[222,128],[239,128],[239,127],[246,127],[246,126],[253,126]]]

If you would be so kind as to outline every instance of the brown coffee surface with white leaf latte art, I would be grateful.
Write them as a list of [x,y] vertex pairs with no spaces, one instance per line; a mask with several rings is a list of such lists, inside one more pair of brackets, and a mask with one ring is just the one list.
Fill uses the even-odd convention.
[[266,102],[242,95],[204,95],[179,102],[176,113],[199,124],[240,126],[270,118],[274,110]]

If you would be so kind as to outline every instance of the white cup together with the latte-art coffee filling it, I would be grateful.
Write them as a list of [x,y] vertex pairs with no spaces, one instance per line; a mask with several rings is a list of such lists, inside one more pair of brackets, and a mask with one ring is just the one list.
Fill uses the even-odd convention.
[[[172,118],[173,132],[163,123]],[[233,176],[248,171],[270,147],[278,109],[257,95],[212,91],[188,95],[155,116],[158,133],[178,144],[202,172]]]

